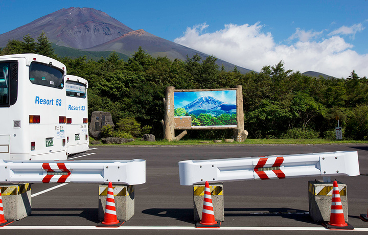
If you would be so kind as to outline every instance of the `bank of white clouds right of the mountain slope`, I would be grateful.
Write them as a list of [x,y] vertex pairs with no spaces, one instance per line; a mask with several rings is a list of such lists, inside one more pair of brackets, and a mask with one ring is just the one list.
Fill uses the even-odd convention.
[[[346,78],[354,69],[360,77],[368,76],[368,54],[359,55],[352,50],[352,44],[338,36],[342,32],[348,32],[342,30],[342,27],[340,31],[333,31],[335,33],[332,32],[327,38],[320,40],[317,38],[321,38],[324,31],[296,29],[288,38],[289,41],[296,39],[296,42],[288,45],[275,43],[270,32],[262,31],[263,27],[260,22],[240,26],[229,24],[224,29],[208,33],[204,31],[209,26],[203,23],[187,28],[183,36],[174,41],[257,72],[265,65],[275,65],[283,60],[286,69],[299,70],[302,73],[313,70]],[[362,27],[351,29],[351,34],[363,30]]]

